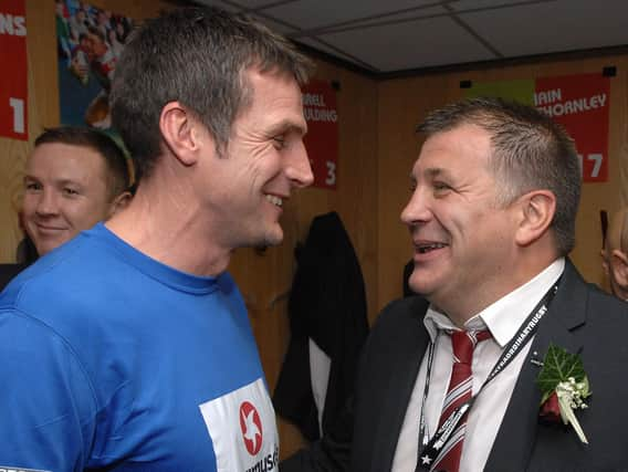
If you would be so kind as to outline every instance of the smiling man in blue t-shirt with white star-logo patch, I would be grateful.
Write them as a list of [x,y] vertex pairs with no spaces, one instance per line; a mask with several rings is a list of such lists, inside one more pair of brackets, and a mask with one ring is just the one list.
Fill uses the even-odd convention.
[[0,295],[0,466],[272,471],[279,440],[237,248],[278,244],[312,183],[308,60],[241,15],[179,9],[126,45],[112,117],[127,208]]

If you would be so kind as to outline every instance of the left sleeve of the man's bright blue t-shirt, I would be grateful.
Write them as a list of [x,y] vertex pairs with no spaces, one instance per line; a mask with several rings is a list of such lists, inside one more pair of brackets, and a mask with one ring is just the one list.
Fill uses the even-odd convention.
[[0,465],[82,471],[95,395],[71,347],[50,327],[0,311]]

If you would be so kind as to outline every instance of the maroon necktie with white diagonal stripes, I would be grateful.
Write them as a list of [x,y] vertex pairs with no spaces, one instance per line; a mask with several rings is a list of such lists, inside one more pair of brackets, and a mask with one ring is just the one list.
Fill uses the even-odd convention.
[[[491,334],[488,331],[451,333],[453,367],[451,369],[447,397],[444,397],[442,412],[440,413],[440,420],[438,422],[439,428],[458,407],[471,399],[473,389],[473,373],[471,371],[473,349],[479,342],[489,339],[490,337]],[[456,430],[438,454],[435,465],[432,466],[433,471],[458,472],[464,442],[467,416],[468,413],[461,418]]]

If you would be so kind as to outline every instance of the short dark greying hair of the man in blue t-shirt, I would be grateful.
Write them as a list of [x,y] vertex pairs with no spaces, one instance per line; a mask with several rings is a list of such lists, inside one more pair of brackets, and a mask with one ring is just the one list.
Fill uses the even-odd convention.
[[221,153],[251,103],[251,66],[304,84],[313,64],[264,25],[217,8],[175,9],[134,31],[116,64],[111,104],[138,175],[148,176],[160,154],[159,116],[169,102],[192,112]]

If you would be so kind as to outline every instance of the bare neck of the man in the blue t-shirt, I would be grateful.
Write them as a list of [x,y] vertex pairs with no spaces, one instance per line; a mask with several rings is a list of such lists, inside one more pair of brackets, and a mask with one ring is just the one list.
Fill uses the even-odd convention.
[[142,181],[128,207],[106,227],[138,251],[174,269],[201,276],[220,274],[229,265],[231,250],[212,239],[211,224],[190,193],[191,186],[165,177],[155,174]]

